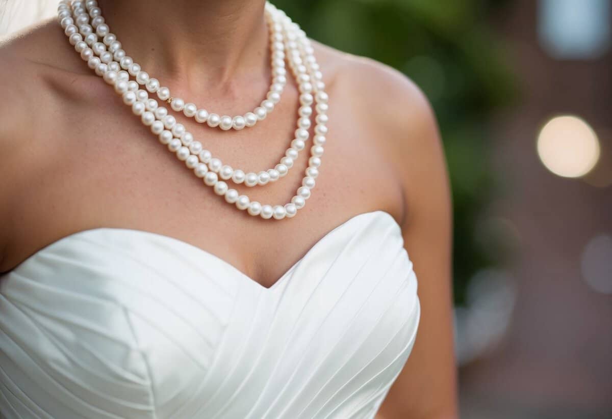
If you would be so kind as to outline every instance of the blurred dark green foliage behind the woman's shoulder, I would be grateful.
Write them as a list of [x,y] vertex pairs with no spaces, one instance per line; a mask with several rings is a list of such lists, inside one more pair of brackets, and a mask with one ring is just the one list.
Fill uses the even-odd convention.
[[335,48],[403,71],[436,112],[449,165],[454,210],[455,303],[469,280],[502,257],[475,232],[496,182],[488,158],[493,112],[515,82],[490,13],[502,0],[272,0],[307,32]]

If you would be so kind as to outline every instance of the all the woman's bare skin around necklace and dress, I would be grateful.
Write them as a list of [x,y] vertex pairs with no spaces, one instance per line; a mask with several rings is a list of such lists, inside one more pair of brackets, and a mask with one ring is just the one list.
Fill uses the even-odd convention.
[[[100,5],[124,48],[173,95],[234,115],[266,93],[262,1]],[[161,25],[160,16],[184,25]],[[422,314],[412,353],[377,418],[457,417],[450,192],[435,116],[398,71],[313,43],[330,97],[328,142],[312,197],[296,217],[279,222],[233,209],[203,187],[89,70],[55,20],[4,40],[0,272],[77,231],[124,227],[193,244],[269,287],[332,228],[384,210],[401,227]],[[255,128],[221,132],[179,119],[224,163],[258,172],[274,167],[288,147],[297,97],[289,73],[282,100]],[[288,202],[308,147],[281,181],[232,187],[259,202]]]

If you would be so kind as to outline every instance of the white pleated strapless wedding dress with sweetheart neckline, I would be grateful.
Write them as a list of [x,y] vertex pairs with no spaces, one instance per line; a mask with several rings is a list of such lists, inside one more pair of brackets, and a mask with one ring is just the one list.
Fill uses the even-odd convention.
[[419,319],[384,211],[334,228],[271,288],[169,236],[79,231],[0,277],[0,416],[373,418]]

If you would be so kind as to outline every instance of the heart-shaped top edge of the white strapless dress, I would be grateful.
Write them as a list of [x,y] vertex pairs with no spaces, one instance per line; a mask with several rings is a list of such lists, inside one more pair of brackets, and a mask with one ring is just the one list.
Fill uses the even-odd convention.
[[246,280],[246,282],[251,283],[251,286],[255,286],[256,288],[258,288],[261,292],[267,292],[267,293],[272,293],[272,291],[274,291],[276,288],[278,288],[278,286],[280,286],[281,283],[284,283],[286,278],[289,277],[289,274],[291,274],[291,272],[293,272],[293,270],[297,267],[298,264],[300,264],[300,262],[304,261],[305,258],[308,257],[308,255],[312,254],[315,251],[315,248],[321,246],[321,244],[325,241],[327,241],[327,239],[329,239],[330,236],[332,236],[333,233],[337,232],[338,230],[340,230],[343,227],[346,227],[346,225],[351,224],[351,222],[353,222],[356,219],[359,219],[361,217],[365,217],[365,216],[373,216],[373,215],[384,215],[387,217],[387,219],[390,219],[392,221],[392,224],[395,225],[395,227],[397,227],[400,231],[401,231],[401,227],[400,224],[398,224],[397,220],[395,220],[395,217],[392,216],[388,211],[385,210],[373,210],[373,211],[367,211],[365,213],[359,213],[356,214],[354,216],[349,217],[348,219],[346,219],[344,222],[341,222],[340,224],[338,224],[337,226],[335,226],[334,228],[332,228],[331,230],[327,231],[327,233],[325,233],[318,241],[315,242],[315,244],[313,244],[313,246],[311,246],[305,253],[304,255],[302,255],[302,257],[300,257],[295,263],[293,263],[293,265],[291,265],[291,267],[289,269],[287,269],[277,280],[275,280],[274,283],[272,283],[271,286],[264,286],[261,283],[259,283],[258,281],[256,281],[255,279],[253,279],[252,277],[250,277],[249,275],[245,274],[244,272],[242,272],[239,268],[237,268],[236,266],[234,266],[233,264],[231,264],[230,262],[226,261],[225,259],[218,257],[217,255],[215,255],[214,253],[209,252],[208,250],[204,250],[201,249],[201,247],[195,246],[195,244],[191,244],[187,241],[184,241],[182,239],[173,237],[173,236],[168,236],[165,235],[163,233],[155,233],[154,231],[148,231],[148,230],[141,230],[138,228],[129,228],[129,227],[93,227],[93,228],[87,228],[85,230],[79,230],[79,231],[75,231],[74,233],[70,233],[69,235],[65,235],[53,242],[50,242],[49,244],[43,246],[42,248],[40,248],[39,250],[37,250],[36,252],[32,253],[32,255],[30,255],[29,257],[27,257],[26,259],[24,259],[23,261],[21,261],[21,263],[19,263],[17,266],[15,266],[15,268],[11,269],[8,272],[4,272],[4,274],[0,274],[0,279],[4,276],[4,275],[9,275],[10,272],[17,270],[17,268],[19,266],[21,266],[24,263],[27,263],[29,260],[31,260],[32,258],[35,257],[35,255],[37,255],[38,253],[43,252],[46,249],[49,249],[52,246],[55,246],[56,244],[59,244],[60,242],[63,242],[67,239],[76,237],[76,236],[81,236],[81,235],[86,235],[86,234],[91,234],[94,233],[96,231],[103,231],[103,230],[117,230],[117,231],[129,231],[130,233],[137,233],[137,234],[142,234],[142,235],[151,235],[151,236],[155,236],[157,238],[162,238],[164,240],[170,240],[173,241],[177,244],[179,244],[180,246],[185,246],[188,247],[192,250],[195,250],[195,252],[201,253],[202,255],[205,255],[206,257],[212,258],[216,261],[218,261],[218,263],[223,264],[223,266],[226,266],[227,268],[231,269],[231,271],[236,272],[236,274],[238,274],[240,277],[242,277],[242,279]]

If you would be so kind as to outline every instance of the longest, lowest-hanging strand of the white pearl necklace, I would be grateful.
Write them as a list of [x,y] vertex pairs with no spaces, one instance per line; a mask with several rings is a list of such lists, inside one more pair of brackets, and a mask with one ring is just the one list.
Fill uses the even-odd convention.
[[[290,203],[285,204],[285,206],[272,206],[267,204],[261,205],[259,202],[250,202],[246,195],[238,195],[235,189],[228,189],[228,186],[224,181],[218,180],[217,174],[215,172],[207,171],[207,166],[205,163],[196,163],[196,159],[190,159],[192,156],[194,158],[197,158],[198,156],[193,155],[189,148],[185,147],[184,145],[181,145],[181,139],[175,137],[176,134],[181,134],[180,136],[184,135],[184,131],[182,131],[181,129],[177,129],[176,126],[173,127],[172,131],[163,129],[165,127],[163,125],[162,120],[157,118],[157,115],[152,112],[158,108],[157,101],[155,101],[154,99],[148,99],[148,93],[145,90],[138,90],[137,82],[128,81],[129,74],[127,73],[127,71],[119,70],[120,67],[118,62],[112,61],[109,62],[107,65],[106,63],[100,62],[100,59],[98,57],[93,56],[93,51],[91,50],[91,48],[76,48],[76,44],[79,42],[76,39],[77,37],[73,36],[76,34],[76,26],[72,23],[69,23],[68,21],[64,21],[64,19],[67,17],[65,16],[65,11],[69,9],[68,4],[68,0],[61,0],[61,3],[58,7],[58,20],[62,24],[62,27],[64,27],[64,32],[69,37],[70,43],[75,45],[75,49],[77,49],[77,51],[78,49],[81,49],[81,58],[83,60],[88,61],[89,67],[95,69],[95,73],[97,75],[102,76],[108,84],[114,85],[115,90],[118,93],[122,94],[124,103],[131,105],[133,110],[135,110],[135,107],[141,109],[141,120],[144,125],[151,126],[151,130],[154,133],[160,131],[160,142],[162,142],[163,144],[167,144],[168,149],[170,151],[174,151],[177,155],[177,158],[185,161],[185,164],[187,164],[188,167],[193,166],[190,167],[190,169],[193,168],[195,170],[196,175],[204,179],[204,183],[207,184],[207,186],[212,186],[214,188],[215,194],[225,195],[225,200],[228,203],[235,203],[238,209],[247,210],[249,214],[253,216],[260,215],[264,219],[271,219],[272,217],[274,219],[283,219],[285,216],[293,217],[296,215],[297,210],[304,207],[305,200],[310,197],[310,190],[315,186],[314,177],[310,176],[308,172],[310,170],[311,174],[314,174],[314,172],[312,171],[314,169],[316,171],[316,174],[318,174],[318,167],[321,164],[320,157],[323,154],[322,145],[313,145],[313,147],[311,148],[312,157],[309,159],[309,167],[308,169],[306,169],[307,176],[304,177],[304,179],[302,180],[302,186],[297,189],[297,194],[291,199]],[[279,13],[281,13],[282,16],[286,16],[283,12],[279,11]],[[288,18],[285,18],[285,23],[286,27],[290,27],[289,23],[291,23],[291,21]],[[292,28],[294,30],[297,30],[299,29],[299,26],[293,24]],[[294,38],[294,35],[295,34],[293,34],[291,38]],[[303,31],[297,32],[295,38],[299,39],[300,41],[300,56],[305,57],[306,62],[312,64],[308,66],[309,73],[311,75],[316,75],[314,71],[318,71],[318,65],[315,67],[316,60],[314,59],[314,56],[312,54],[313,51],[312,46],[310,46],[310,42],[305,37]],[[86,53],[84,53],[83,51],[86,51]],[[319,109],[322,109],[324,112],[326,112],[328,109],[327,95],[323,91],[323,82],[316,82],[313,88],[316,91],[316,109],[318,111]],[[136,106],[136,103],[140,103],[140,106]],[[327,119],[325,121],[318,121],[318,124],[315,127],[315,132],[319,135],[326,134],[326,122]],[[321,127],[325,129],[321,129]]]

